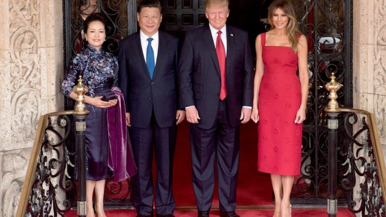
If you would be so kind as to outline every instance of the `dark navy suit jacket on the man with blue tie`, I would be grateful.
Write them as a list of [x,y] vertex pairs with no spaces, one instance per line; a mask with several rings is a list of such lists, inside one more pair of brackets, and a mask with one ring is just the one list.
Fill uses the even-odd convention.
[[146,128],[154,109],[160,127],[176,122],[178,39],[159,31],[157,61],[150,78],[142,52],[140,32],[124,38],[119,47],[118,85],[130,113],[131,126]]

